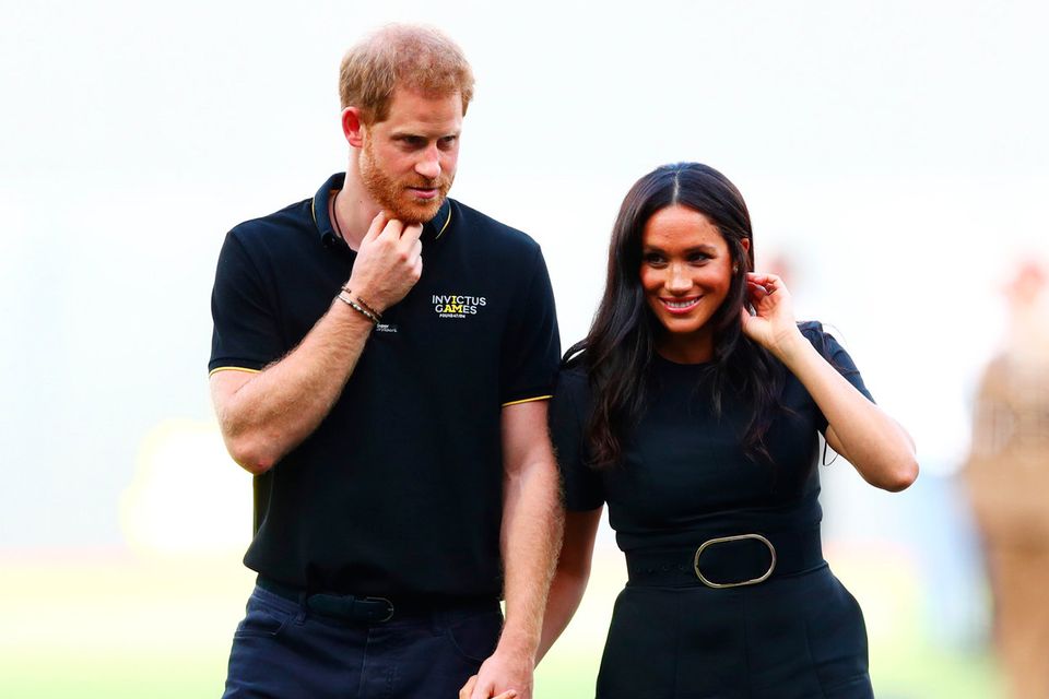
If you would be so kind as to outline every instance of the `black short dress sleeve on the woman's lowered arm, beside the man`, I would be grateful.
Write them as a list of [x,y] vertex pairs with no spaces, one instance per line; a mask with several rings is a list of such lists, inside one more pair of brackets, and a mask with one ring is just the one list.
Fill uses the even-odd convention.
[[604,503],[601,475],[587,465],[588,393],[581,371],[563,370],[550,402],[550,434],[561,467],[565,507],[573,511],[593,510]]

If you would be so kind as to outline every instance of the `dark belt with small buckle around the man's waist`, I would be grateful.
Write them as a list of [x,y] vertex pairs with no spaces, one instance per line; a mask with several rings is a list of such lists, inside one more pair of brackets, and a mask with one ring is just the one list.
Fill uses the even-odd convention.
[[262,576],[256,579],[256,583],[279,597],[304,603],[310,612],[347,624],[384,624],[394,618],[421,617],[450,609],[483,611],[498,605],[490,597],[399,597],[394,603],[387,597],[325,592],[307,594]]

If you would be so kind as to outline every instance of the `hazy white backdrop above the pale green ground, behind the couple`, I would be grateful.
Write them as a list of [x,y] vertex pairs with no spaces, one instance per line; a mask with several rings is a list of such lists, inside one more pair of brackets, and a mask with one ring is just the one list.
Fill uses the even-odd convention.
[[950,472],[997,288],[1049,252],[1040,2],[4,0],[2,16],[0,547],[122,541],[146,436],[210,419],[223,234],[344,168],[338,62],[388,21],[441,27],[474,64],[453,196],[543,245],[566,345],[629,185],[702,161],[747,199],[759,264],[789,258],[801,315],[840,331]]

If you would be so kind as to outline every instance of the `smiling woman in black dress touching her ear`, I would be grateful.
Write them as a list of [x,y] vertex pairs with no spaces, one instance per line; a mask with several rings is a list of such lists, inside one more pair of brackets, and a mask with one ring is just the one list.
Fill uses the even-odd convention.
[[566,355],[551,429],[568,514],[543,648],[579,603],[608,502],[629,581],[599,699],[873,696],[860,608],[821,552],[817,433],[894,491],[918,474],[914,445],[753,264],[735,187],[660,167],[624,200],[601,306]]

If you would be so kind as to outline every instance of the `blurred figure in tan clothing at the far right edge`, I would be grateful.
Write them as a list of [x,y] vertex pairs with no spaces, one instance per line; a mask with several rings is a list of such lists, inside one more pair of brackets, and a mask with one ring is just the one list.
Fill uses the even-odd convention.
[[1049,305],[1045,270],[1009,284],[1005,346],[976,401],[965,481],[994,595],[999,653],[1017,699],[1049,697]]

